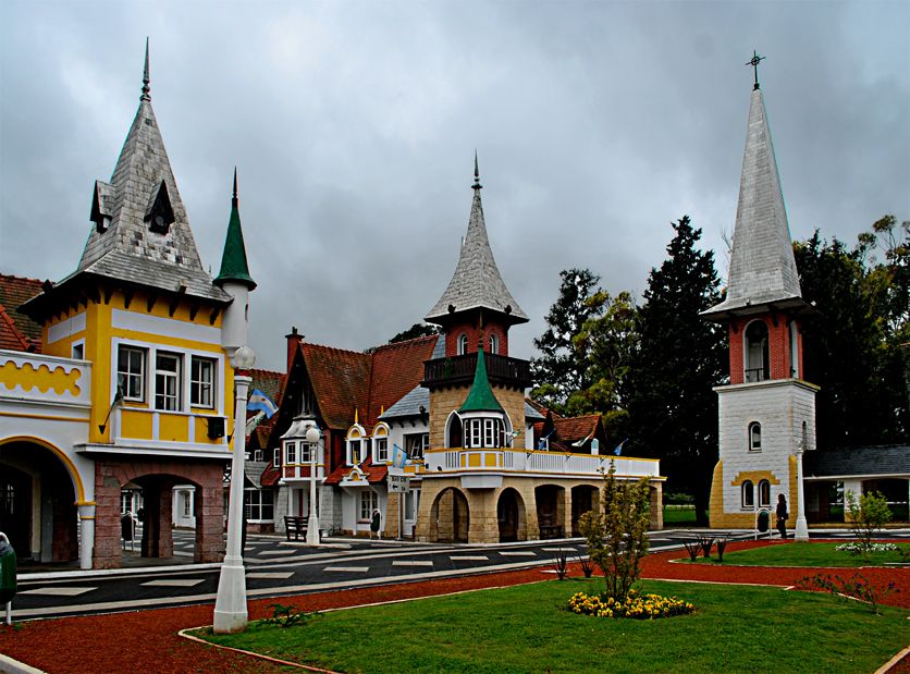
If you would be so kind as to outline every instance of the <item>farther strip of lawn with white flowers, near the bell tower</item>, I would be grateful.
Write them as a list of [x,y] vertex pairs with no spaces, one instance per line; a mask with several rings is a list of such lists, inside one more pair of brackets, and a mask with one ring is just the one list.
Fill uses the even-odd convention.
[[[847,541],[845,541],[847,542]],[[767,546],[752,550],[724,552],[724,564],[740,566],[884,566],[898,562],[906,562],[900,552],[872,552],[869,555],[851,554],[847,551],[835,550],[840,543],[786,543]],[[905,554],[910,553],[910,544],[898,543]],[[720,564],[717,551],[712,550],[712,556],[699,556],[696,564]],[[686,560],[686,563],[691,563]]]

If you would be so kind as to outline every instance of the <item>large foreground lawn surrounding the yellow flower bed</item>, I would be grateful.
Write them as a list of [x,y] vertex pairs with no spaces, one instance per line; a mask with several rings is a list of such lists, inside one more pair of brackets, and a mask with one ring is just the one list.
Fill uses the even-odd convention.
[[[574,578],[323,614],[303,627],[198,633],[343,672],[872,672],[910,640],[907,611],[779,588],[645,581],[696,604],[657,621],[565,610]],[[305,609],[305,606],[300,606]]]

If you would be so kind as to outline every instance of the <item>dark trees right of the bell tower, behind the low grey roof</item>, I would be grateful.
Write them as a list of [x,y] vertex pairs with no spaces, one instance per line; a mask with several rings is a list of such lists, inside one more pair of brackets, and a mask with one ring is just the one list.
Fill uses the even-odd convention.
[[[891,229],[888,229],[891,228]],[[803,299],[815,313],[803,326],[806,379],[817,384],[817,446],[907,441],[908,403],[900,344],[908,339],[906,244],[886,248],[886,262],[870,256],[893,231],[886,217],[848,249],[816,231],[794,244]],[[887,237],[885,237],[887,241]],[[902,295],[902,296],[901,296]]]

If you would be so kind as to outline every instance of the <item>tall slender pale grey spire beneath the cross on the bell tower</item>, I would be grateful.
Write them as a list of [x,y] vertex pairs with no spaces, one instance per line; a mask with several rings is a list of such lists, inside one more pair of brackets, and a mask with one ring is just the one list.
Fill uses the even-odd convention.
[[727,296],[704,316],[723,319],[738,309],[749,313],[770,305],[784,309],[804,303],[764,97],[755,86],[749,107]]

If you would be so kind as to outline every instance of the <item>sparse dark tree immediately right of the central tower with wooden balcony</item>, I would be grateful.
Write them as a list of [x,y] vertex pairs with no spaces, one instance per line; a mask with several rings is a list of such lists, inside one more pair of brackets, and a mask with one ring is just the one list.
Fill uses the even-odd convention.
[[559,278],[559,295],[546,315],[549,327],[534,339],[542,355],[531,358],[531,396],[563,413],[569,395],[587,388],[585,355],[577,352],[573,340],[585,321],[599,316],[602,309],[589,304],[601,292],[598,274],[590,269],[565,269]]

